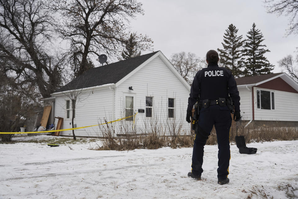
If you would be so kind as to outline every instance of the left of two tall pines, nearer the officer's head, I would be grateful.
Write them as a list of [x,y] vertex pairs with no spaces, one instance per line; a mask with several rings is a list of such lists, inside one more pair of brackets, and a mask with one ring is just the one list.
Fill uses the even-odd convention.
[[232,71],[235,77],[242,74],[242,45],[244,40],[242,35],[237,36],[238,29],[233,24],[230,24],[224,33],[224,42],[221,43],[224,49],[217,49],[219,51],[219,62],[223,67]]

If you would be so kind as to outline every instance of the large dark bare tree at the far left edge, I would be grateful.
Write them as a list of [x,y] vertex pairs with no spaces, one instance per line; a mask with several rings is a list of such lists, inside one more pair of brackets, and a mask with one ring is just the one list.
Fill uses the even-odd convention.
[[34,83],[43,97],[61,86],[63,59],[47,49],[54,22],[43,1],[0,0],[2,72]]

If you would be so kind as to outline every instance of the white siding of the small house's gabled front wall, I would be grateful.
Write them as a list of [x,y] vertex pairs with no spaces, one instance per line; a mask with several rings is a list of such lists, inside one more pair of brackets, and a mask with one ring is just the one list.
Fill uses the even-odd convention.
[[[129,86],[133,90],[129,90]],[[146,66],[133,74],[117,87],[117,108],[116,117],[121,118],[124,110],[125,95],[134,96],[134,110],[145,109],[145,113],[138,113],[136,117],[136,127],[142,129],[142,132],[151,132],[151,127],[145,129],[144,121],[150,123],[150,118],[146,118],[146,96],[153,97],[153,118],[158,119],[157,127],[166,126],[168,118],[168,98],[175,99],[175,122],[182,123],[183,133],[190,132],[190,124],[185,121],[189,90],[174,75],[174,73],[159,58],[154,58]],[[168,119],[169,123],[173,119]],[[149,125],[150,126],[150,125]],[[178,124],[177,124],[178,126]],[[147,130],[147,131],[145,131]]]

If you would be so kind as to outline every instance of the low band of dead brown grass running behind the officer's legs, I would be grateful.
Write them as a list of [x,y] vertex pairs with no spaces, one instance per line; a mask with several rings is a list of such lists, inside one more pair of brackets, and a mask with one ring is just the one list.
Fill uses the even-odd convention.
[[[151,127],[150,124],[148,126]],[[173,129],[173,123],[168,126]],[[195,138],[193,133],[190,135],[181,135],[181,128],[179,127],[175,128],[175,131],[167,131],[168,129],[166,128],[155,128],[153,133],[146,132],[144,134],[137,134],[135,129],[131,132],[132,129],[130,129],[130,132],[123,133],[123,137],[115,137],[115,132],[111,131],[112,127],[108,124],[104,129],[105,130],[102,132],[104,137],[103,146],[93,148],[94,150],[158,149],[166,146],[171,148],[192,147]],[[160,129],[163,132],[156,129]],[[168,135],[166,135],[165,132],[169,132]],[[244,124],[240,122],[233,122],[230,129],[231,142],[235,142],[236,135],[243,135],[246,143],[275,140],[297,140],[298,128],[282,127],[281,124],[280,126],[277,124],[276,127],[263,126],[252,129],[249,127],[245,128]],[[215,129],[213,128],[206,145],[216,144],[217,137]]]

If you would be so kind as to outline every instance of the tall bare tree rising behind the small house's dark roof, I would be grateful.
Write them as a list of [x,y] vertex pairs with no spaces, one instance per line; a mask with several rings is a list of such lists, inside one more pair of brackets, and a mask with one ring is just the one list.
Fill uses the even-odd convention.
[[[70,41],[75,76],[88,70],[91,55],[119,57],[127,42],[129,20],[144,13],[141,6],[136,0],[54,0],[52,8],[63,18],[58,30]],[[136,38],[139,49],[151,48],[152,41],[146,35]]]

